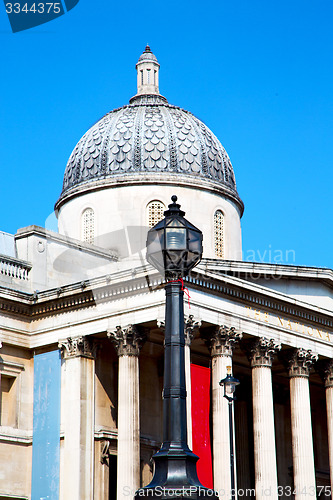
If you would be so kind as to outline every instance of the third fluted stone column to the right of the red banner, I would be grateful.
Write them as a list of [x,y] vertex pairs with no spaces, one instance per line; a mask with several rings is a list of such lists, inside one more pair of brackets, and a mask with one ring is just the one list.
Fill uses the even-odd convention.
[[302,348],[284,356],[290,377],[295,500],[316,498],[309,374],[318,355]]

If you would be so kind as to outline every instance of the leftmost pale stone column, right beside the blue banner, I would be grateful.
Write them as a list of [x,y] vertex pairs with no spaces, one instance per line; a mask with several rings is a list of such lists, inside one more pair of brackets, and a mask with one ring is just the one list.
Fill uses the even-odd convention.
[[62,500],[94,495],[94,406],[96,344],[89,337],[59,342],[62,363],[61,414],[64,431]]

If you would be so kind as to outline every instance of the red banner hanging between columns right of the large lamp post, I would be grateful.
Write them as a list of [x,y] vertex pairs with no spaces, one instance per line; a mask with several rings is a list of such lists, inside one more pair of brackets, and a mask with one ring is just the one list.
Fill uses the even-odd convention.
[[199,481],[213,488],[212,450],[210,444],[210,368],[191,364],[193,453],[198,455]]

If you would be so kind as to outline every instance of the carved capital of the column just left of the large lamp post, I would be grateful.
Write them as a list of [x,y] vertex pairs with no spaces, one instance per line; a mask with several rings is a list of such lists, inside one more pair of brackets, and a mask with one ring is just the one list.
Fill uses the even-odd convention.
[[139,356],[147,337],[147,331],[146,328],[139,328],[136,325],[117,326],[115,330],[108,331],[107,336],[113,343],[119,357]]

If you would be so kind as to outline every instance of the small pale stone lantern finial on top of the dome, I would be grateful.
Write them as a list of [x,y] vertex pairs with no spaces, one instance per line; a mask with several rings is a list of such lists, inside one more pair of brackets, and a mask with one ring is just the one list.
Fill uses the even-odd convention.
[[150,46],[146,45],[145,50],[139,57],[136,65],[138,73],[138,91],[137,95],[159,95],[158,73],[160,65],[156,56],[151,51]]

